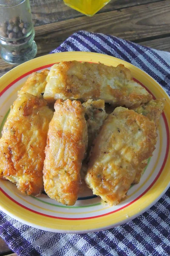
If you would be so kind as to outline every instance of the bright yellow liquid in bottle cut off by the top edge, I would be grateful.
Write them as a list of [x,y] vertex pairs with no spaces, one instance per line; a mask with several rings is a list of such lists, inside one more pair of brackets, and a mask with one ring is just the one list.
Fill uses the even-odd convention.
[[93,16],[110,1],[111,0],[64,0],[64,3],[87,16]]

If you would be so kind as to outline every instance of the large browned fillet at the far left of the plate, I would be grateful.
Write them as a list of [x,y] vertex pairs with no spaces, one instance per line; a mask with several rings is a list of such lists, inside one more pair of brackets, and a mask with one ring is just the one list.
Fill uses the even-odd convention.
[[3,127],[0,177],[16,183],[27,195],[39,195],[43,190],[44,150],[52,116],[44,99],[19,93]]

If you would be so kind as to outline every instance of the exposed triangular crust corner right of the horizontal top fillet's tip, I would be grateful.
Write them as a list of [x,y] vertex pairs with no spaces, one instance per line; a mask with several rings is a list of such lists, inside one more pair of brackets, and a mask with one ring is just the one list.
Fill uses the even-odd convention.
[[133,110],[143,116],[147,116],[149,120],[155,122],[156,128],[159,126],[159,119],[161,113],[163,112],[165,104],[165,99],[155,99],[150,100],[144,105],[139,106],[138,108],[133,108]]

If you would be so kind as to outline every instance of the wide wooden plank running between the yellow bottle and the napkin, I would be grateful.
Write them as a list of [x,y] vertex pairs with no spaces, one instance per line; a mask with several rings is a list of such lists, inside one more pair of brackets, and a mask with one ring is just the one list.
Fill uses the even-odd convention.
[[[94,17],[78,17],[71,20],[64,20],[57,23],[35,27],[35,41],[38,47],[37,57],[48,54],[52,49],[58,47],[68,36],[75,31],[87,30],[91,32],[103,32],[115,35],[126,40],[137,40],[140,44],[160,37],[154,46],[161,47],[161,36],[170,36],[169,32],[169,0],[134,6],[123,9],[121,12],[111,11],[95,15]],[[167,34],[167,36],[166,36]],[[154,38],[155,37],[155,38]],[[168,47],[168,46],[166,46]],[[0,60],[1,76],[13,66]]]

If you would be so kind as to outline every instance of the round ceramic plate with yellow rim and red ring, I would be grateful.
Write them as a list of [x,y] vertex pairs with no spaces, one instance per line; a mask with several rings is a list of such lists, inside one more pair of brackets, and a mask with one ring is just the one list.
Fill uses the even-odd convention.
[[153,98],[166,98],[153,157],[150,158],[140,183],[131,186],[125,200],[117,206],[102,206],[100,199],[90,189],[79,194],[74,206],[64,206],[44,194],[37,198],[22,195],[14,184],[0,180],[0,209],[11,217],[42,230],[87,233],[132,220],[155,204],[167,190],[170,180],[170,98],[153,78],[126,61],[91,52],[55,53],[21,64],[0,78],[0,130],[8,116],[10,105],[17,98],[17,90],[32,72],[40,72],[60,61],[72,60],[95,63],[100,61],[113,66],[124,64]]

